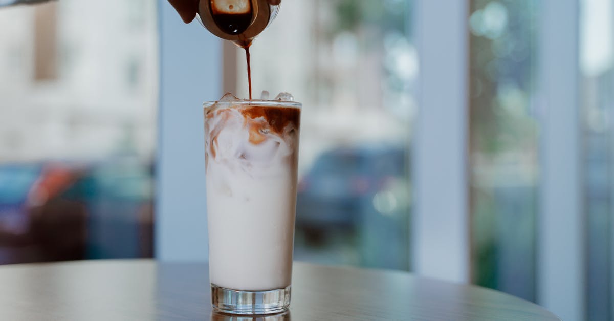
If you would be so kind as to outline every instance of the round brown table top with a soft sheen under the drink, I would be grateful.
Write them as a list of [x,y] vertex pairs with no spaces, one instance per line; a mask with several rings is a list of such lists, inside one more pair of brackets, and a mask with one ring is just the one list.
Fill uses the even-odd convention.
[[211,312],[207,264],[99,260],[0,266],[0,320],[559,320],[536,304],[408,272],[295,263],[290,312]]

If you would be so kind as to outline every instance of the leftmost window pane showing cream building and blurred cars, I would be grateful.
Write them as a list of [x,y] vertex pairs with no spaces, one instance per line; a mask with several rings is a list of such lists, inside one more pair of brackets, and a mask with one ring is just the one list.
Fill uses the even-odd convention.
[[156,10],[0,8],[0,264],[152,256]]

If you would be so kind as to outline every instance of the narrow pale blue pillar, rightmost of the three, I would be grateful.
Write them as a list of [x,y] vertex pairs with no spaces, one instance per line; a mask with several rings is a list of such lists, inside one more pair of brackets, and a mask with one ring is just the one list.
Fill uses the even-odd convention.
[[543,0],[538,42],[543,114],[537,298],[562,320],[585,318],[578,9],[578,0]]

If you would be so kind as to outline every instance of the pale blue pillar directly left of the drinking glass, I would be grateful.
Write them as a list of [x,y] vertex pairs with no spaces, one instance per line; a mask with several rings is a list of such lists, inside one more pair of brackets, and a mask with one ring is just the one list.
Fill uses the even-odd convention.
[[198,22],[185,25],[168,1],[158,4],[155,256],[165,261],[206,261],[202,104],[222,95],[222,42]]

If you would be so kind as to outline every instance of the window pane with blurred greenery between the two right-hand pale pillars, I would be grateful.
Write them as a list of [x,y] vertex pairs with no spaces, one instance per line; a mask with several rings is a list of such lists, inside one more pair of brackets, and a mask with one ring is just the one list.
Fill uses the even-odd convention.
[[539,1],[470,1],[472,279],[535,301]]

